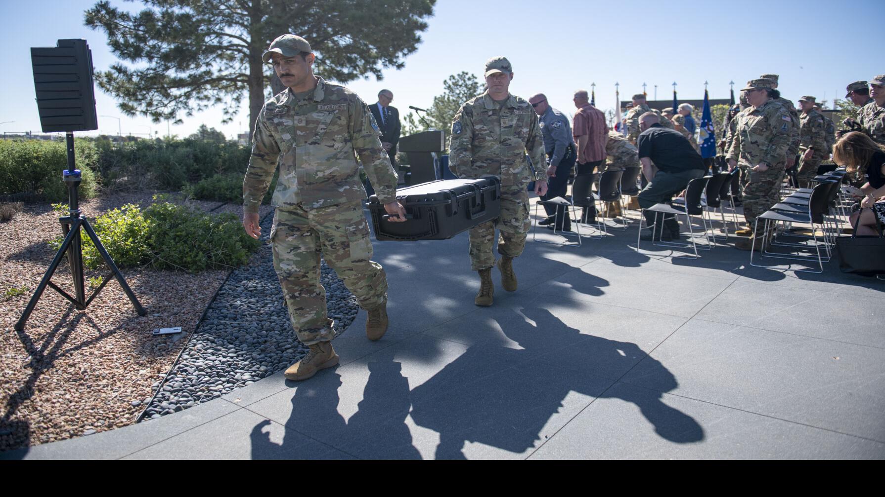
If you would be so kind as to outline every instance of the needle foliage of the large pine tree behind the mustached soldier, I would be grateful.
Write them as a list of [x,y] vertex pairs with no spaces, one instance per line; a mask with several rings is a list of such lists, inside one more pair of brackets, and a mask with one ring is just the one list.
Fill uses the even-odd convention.
[[130,13],[108,1],[86,11],[87,26],[107,34],[120,60],[96,81],[129,116],[155,122],[222,105],[226,122],[244,95],[250,131],[265,100],[270,66],[258,54],[274,38],[297,33],[319,54],[317,73],[350,81],[402,69],[416,49],[435,0],[142,0]]

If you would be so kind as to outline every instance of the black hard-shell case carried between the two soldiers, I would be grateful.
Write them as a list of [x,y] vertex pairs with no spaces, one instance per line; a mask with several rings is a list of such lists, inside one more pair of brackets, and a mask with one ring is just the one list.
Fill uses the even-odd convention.
[[378,240],[445,240],[501,215],[501,182],[497,177],[438,179],[396,191],[406,222],[389,222],[387,211],[369,199]]

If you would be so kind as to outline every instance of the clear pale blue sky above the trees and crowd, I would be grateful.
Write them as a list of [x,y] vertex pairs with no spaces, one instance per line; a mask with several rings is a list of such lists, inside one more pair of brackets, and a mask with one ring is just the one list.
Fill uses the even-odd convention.
[[[54,46],[59,38],[85,38],[96,69],[114,62],[104,34],[83,26],[83,11],[93,4],[91,0],[0,0],[4,47],[0,122],[15,121],[0,124],[0,132],[40,131],[29,47]],[[117,0],[112,4],[138,8]],[[513,64],[513,94],[528,98],[543,92],[555,108],[569,114],[573,90],[590,89],[594,82],[597,107],[611,109],[616,81],[623,100],[641,93],[643,82],[650,98],[654,85],[658,99],[672,98],[673,81],[684,99],[702,98],[704,81],[710,83],[711,98],[727,98],[728,81],[740,88],[764,72],[781,75],[781,92],[788,99],[811,94],[832,102],[834,96],[844,96],[851,81],[885,73],[885,58],[863,55],[863,50],[873,53],[881,46],[881,30],[866,26],[883,14],[881,0],[850,4],[439,0],[423,43],[405,60],[403,70],[385,71],[383,81],[372,78],[346,85],[369,103],[377,100],[382,87],[389,88],[394,92],[393,105],[405,114],[409,105],[426,108],[435,94],[442,93],[443,79],[450,74],[481,75],[489,56],[504,55]],[[814,24],[808,19],[815,19]],[[166,132],[165,123],[123,116],[112,97],[100,90],[96,101],[100,116],[121,118],[124,134]],[[208,124],[233,138],[247,128],[247,116],[244,106],[232,124],[219,124],[221,113],[212,109],[183,117],[184,124],[170,129],[183,136]],[[98,121],[99,132],[117,132],[117,119]]]

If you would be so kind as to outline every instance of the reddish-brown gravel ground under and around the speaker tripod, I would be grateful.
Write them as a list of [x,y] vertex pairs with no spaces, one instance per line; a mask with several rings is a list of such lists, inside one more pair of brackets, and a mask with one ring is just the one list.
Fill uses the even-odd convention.
[[[82,201],[81,210],[91,221],[127,203],[146,207],[150,199],[150,192],[114,193]],[[173,196],[170,201],[182,200]],[[205,210],[219,206],[193,203]],[[262,209],[266,215],[271,207]],[[242,215],[242,207],[226,205],[213,212]],[[12,221],[0,222],[0,450],[134,423],[154,393],[151,385],[172,367],[229,273],[123,269],[148,312],[144,317],[135,313],[116,280],[85,311],[47,288],[25,330],[18,332],[13,325],[50,265],[55,252],[47,242],[58,234],[58,214],[48,204],[26,205]],[[107,272],[89,272],[87,278]],[[52,281],[73,295],[66,261]],[[179,326],[181,334],[151,334],[154,328]],[[135,401],[142,405],[134,406]]]

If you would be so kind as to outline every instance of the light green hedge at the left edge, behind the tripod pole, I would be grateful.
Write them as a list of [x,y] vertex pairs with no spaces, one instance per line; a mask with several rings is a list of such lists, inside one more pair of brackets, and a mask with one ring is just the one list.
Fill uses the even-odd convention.
[[[98,184],[93,169],[98,151],[89,139],[74,139],[74,161],[81,170],[81,199],[95,197]],[[49,201],[67,199],[62,171],[67,169],[64,141],[41,139],[0,140],[0,195],[42,193]]]

